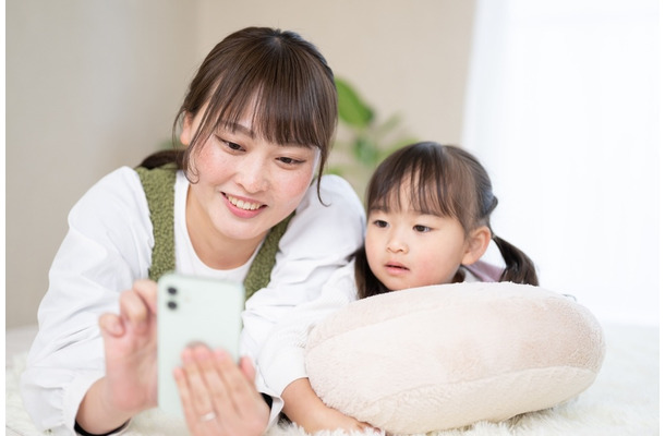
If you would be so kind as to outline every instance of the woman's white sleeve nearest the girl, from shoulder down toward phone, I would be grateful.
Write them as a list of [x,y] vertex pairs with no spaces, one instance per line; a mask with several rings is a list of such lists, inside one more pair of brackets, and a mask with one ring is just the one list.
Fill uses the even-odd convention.
[[[279,241],[268,287],[246,302],[241,341],[246,348],[241,351],[254,360],[275,325],[297,305],[317,299],[332,272],[347,265],[362,245],[365,213],[351,185],[339,177],[325,175],[321,197],[324,204],[316,185],[311,186]],[[257,386],[277,397],[278,392],[265,387],[262,372],[259,367]]]

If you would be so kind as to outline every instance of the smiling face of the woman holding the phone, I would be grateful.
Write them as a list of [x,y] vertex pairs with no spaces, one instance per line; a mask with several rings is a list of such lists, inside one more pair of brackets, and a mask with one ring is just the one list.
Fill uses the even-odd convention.
[[[190,145],[204,111],[185,117],[184,145]],[[300,204],[319,158],[314,146],[258,137],[251,113],[235,129],[218,128],[201,141],[191,160],[196,183],[188,195],[188,228],[196,227],[211,241],[258,244]]]

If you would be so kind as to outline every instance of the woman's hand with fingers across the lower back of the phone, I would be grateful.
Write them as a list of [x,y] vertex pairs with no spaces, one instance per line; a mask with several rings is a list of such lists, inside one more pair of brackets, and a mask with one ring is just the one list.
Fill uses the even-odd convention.
[[185,349],[174,377],[190,433],[194,436],[253,436],[265,433],[270,410],[254,386],[247,358],[235,365],[221,350]]

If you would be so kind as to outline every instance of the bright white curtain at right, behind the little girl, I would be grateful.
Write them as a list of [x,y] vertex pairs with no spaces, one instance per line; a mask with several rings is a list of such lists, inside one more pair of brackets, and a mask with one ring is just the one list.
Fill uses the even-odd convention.
[[493,229],[602,319],[658,323],[657,104],[657,0],[477,1],[462,145]]

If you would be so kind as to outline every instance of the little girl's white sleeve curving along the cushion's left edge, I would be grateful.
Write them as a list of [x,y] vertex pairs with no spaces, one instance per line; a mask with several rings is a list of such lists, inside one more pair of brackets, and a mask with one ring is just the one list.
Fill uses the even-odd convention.
[[273,330],[258,354],[258,368],[266,387],[281,395],[298,378],[305,378],[304,349],[312,327],[356,300],[354,262],[336,270],[318,299],[303,303]]

